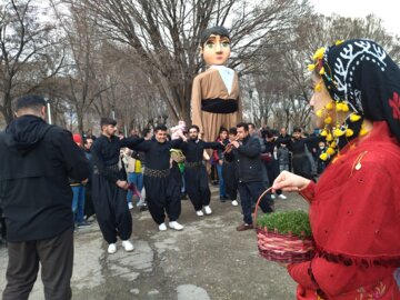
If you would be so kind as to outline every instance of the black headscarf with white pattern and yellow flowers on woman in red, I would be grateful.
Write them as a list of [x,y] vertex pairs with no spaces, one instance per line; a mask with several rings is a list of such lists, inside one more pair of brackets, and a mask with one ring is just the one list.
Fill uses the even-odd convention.
[[[400,69],[378,43],[354,39],[320,48],[316,68],[337,110],[353,111],[333,132],[339,149],[362,133],[363,118],[386,121],[400,141]],[[337,133],[337,134],[334,134]]]

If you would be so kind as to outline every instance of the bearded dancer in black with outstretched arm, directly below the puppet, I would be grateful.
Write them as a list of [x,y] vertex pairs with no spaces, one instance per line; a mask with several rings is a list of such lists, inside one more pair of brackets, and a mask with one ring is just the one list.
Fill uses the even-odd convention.
[[210,208],[211,192],[208,186],[208,176],[206,166],[202,161],[202,153],[204,149],[224,149],[220,142],[204,142],[199,139],[199,127],[192,124],[189,127],[189,140],[182,143],[181,149],[186,157],[184,162],[184,182],[187,184],[187,192],[192,202],[197,216],[211,214]]

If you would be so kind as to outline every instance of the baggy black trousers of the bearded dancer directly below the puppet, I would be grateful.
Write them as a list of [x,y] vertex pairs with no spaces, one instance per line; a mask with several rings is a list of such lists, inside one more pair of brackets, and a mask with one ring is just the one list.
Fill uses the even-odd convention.
[[204,166],[184,169],[184,183],[189,199],[194,210],[210,204],[211,191],[208,184],[208,176]]

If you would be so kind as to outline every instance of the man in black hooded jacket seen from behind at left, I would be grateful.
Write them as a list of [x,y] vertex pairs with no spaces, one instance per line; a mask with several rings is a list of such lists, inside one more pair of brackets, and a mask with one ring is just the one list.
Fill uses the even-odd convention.
[[49,126],[43,98],[17,100],[0,133],[0,206],[9,262],[3,299],[28,299],[39,262],[46,299],[70,299],[73,266],[72,191],[68,178],[89,177],[89,163],[67,130]]

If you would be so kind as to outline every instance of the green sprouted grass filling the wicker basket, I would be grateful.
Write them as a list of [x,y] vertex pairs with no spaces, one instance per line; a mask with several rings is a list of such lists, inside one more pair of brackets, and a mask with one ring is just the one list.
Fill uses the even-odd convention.
[[261,228],[274,229],[282,234],[291,232],[297,237],[311,237],[311,227],[309,216],[304,211],[282,211],[267,213],[257,220]]

